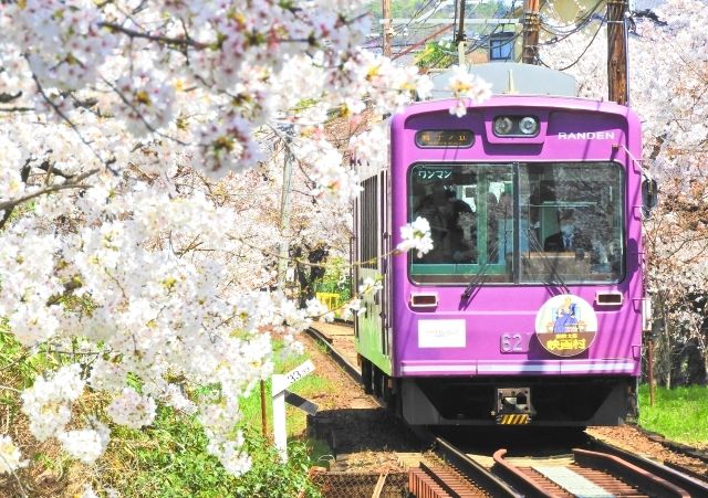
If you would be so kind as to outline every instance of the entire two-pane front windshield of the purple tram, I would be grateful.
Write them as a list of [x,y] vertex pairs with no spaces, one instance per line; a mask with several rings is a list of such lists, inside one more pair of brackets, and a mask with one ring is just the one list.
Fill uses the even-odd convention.
[[615,162],[416,163],[408,220],[428,220],[420,284],[611,283],[624,276],[624,174]]

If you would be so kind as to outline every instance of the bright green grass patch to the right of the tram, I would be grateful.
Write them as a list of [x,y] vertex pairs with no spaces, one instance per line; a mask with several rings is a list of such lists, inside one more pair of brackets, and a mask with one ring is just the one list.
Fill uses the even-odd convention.
[[649,406],[649,386],[639,386],[639,425],[678,443],[708,446],[708,386],[657,386]]

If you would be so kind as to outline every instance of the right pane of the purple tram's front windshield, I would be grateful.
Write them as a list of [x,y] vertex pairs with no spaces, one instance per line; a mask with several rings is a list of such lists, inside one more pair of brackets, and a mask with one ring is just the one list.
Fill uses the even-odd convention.
[[618,280],[624,273],[621,168],[528,165],[521,180],[520,222],[530,226],[522,282]]

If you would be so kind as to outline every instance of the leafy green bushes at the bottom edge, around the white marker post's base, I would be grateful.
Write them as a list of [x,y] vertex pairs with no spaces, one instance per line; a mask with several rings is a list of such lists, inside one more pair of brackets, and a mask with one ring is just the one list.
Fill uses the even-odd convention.
[[115,487],[123,496],[290,498],[302,490],[317,496],[308,481],[310,449],[300,441],[289,443],[289,459],[282,464],[272,445],[249,431],[244,449],[253,466],[233,477],[207,453],[197,420],[169,407],[158,409],[150,427],[118,427],[113,437],[98,486]]

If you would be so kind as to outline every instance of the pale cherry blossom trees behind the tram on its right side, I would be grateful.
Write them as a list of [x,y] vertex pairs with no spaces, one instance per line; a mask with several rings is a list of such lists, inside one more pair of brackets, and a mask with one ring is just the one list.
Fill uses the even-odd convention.
[[[645,13],[646,14],[646,13]],[[708,370],[708,2],[668,0],[629,24],[629,99],[643,121],[643,167],[662,202],[645,220],[647,289],[658,333],[657,377],[671,385],[681,351],[698,348]],[[600,22],[541,59],[579,81],[582,96],[604,98],[606,36]]]

